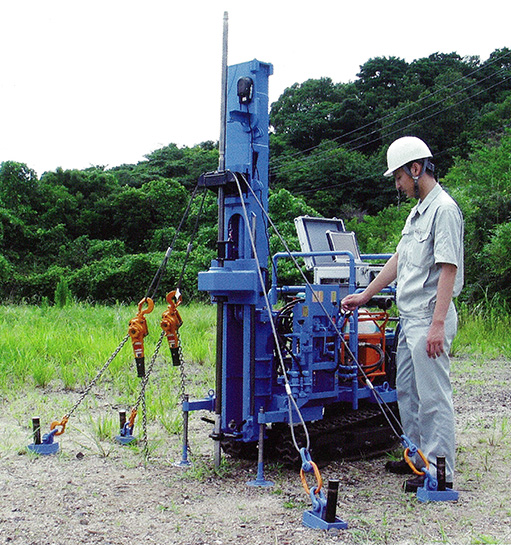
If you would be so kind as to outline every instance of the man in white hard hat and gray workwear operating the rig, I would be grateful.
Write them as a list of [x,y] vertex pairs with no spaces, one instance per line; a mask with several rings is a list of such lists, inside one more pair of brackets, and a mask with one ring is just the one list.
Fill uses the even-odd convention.
[[[419,201],[406,220],[396,253],[362,293],[346,296],[342,307],[354,310],[364,305],[397,278],[401,330],[396,388],[401,422],[407,437],[428,459],[433,476],[437,457],[445,457],[446,483],[452,488],[455,437],[449,350],[457,328],[452,298],[463,285],[463,217],[437,183],[431,158],[428,146],[414,136],[390,145],[385,176],[393,176],[398,190]],[[386,469],[412,473],[404,460],[389,462]],[[422,476],[410,479],[405,490],[415,492],[423,481]]]

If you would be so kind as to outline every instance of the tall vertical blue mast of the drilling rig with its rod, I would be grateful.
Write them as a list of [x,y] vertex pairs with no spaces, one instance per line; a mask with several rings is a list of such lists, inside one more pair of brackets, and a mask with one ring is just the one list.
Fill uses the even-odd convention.
[[[226,24],[227,14],[224,59]],[[260,275],[268,279],[268,79],[273,67],[254,59],[224,64],[223,70],[219,169],[199,180],[218,194],[218,255],[208,271],[199,273],[199,290],[208,291],[217,304],[215,465],[221,440],[258,437],[261,408],[268,410],[271,403],[273,357],[266,287],[260,282]]]

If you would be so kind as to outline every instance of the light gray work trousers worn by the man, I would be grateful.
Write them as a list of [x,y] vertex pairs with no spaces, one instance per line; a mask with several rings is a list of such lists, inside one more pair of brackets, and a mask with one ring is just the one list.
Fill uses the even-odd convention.
[[[426,353],[431,318],[400,319],[396,356],[399,413],[406,436],[431,464],[431,474],[436,476],[437,456],[445,456],[446,481],[453,482],[455,431],[449,350],[458,325],[454,304],[445,320],[444,353],[437,358]],[[422,467],[418,458],[415,462]]]

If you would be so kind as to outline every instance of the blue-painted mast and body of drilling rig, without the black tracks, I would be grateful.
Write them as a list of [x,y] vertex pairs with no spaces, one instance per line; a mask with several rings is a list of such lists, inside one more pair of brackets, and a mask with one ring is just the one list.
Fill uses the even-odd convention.
[[[242,442],[256,442],[261,423],[289,422],[289,388],[305,421],[321,420],[325,407],[332,404],[345,403],[356,410],[361,400],[374,401],[353,362],[341,361],[342,341],[334,326],[341,320],[340,301],[355,291],[354,282],[278,286],[275,257],[270,290],[265,212],[269,185],[268,79],[272,72],[271,64],[257,60],[228,68],[225,171],[206,173],[200,180],[218,191],[219,200],[218,258],[208,271],[199,273],[198,279],[199,290],[209,292],[218,305],[217,385],[206,404],[190,402],[185,410],[212,408],[215,404],[221,415],[222,438]],[[354,270],[352,258],[351,267]],[[266,284],[264,290],[260,276]],[[295,297],[292,313],[286,316],[273,309],[279,294]],[[270,315],[285,339],[288,386],[276,356]],[[355,356],[357,327],[355,313],[349,326],[349,344]],[[393,332],[387,332],[387,342],[392,339]],[[387,383],[376,387],[386,401],[396,400],[395,391]],[[295,409],[291,418],[298,422]]]

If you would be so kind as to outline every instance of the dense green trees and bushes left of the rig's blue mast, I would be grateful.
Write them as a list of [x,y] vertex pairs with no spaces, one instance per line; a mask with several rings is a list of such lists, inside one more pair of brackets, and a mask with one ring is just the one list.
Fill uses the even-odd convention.
[[[192,177],[196,180],[203,171],[214,169],[215,159],[212,143],[191,149],[171,145],[129,168],[110,172],[59,168],[41,180],[23,164],[2,163],[0,295],[53,299],[60,280],[66,278],[72,297],[80,300],[139,300],[161,265],[189,200],[185,180],[163,175],[184,172],[186,184],[191,184]],[[165,166],[165,161],[172,165]],[[163,289],[181,276],[183,251],[198,212],[193,203]],[[196,295],[197,273],[209,265],[215,240],[216,202],[211,194],[183,277],[187,296]]]

